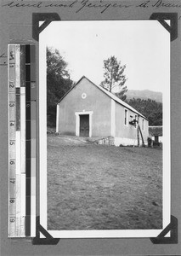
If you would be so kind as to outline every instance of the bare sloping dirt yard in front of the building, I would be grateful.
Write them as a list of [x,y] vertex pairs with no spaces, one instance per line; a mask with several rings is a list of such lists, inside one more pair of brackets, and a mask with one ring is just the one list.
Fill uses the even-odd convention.
[[48,135],[48,230],[161,229],[162,151]]

